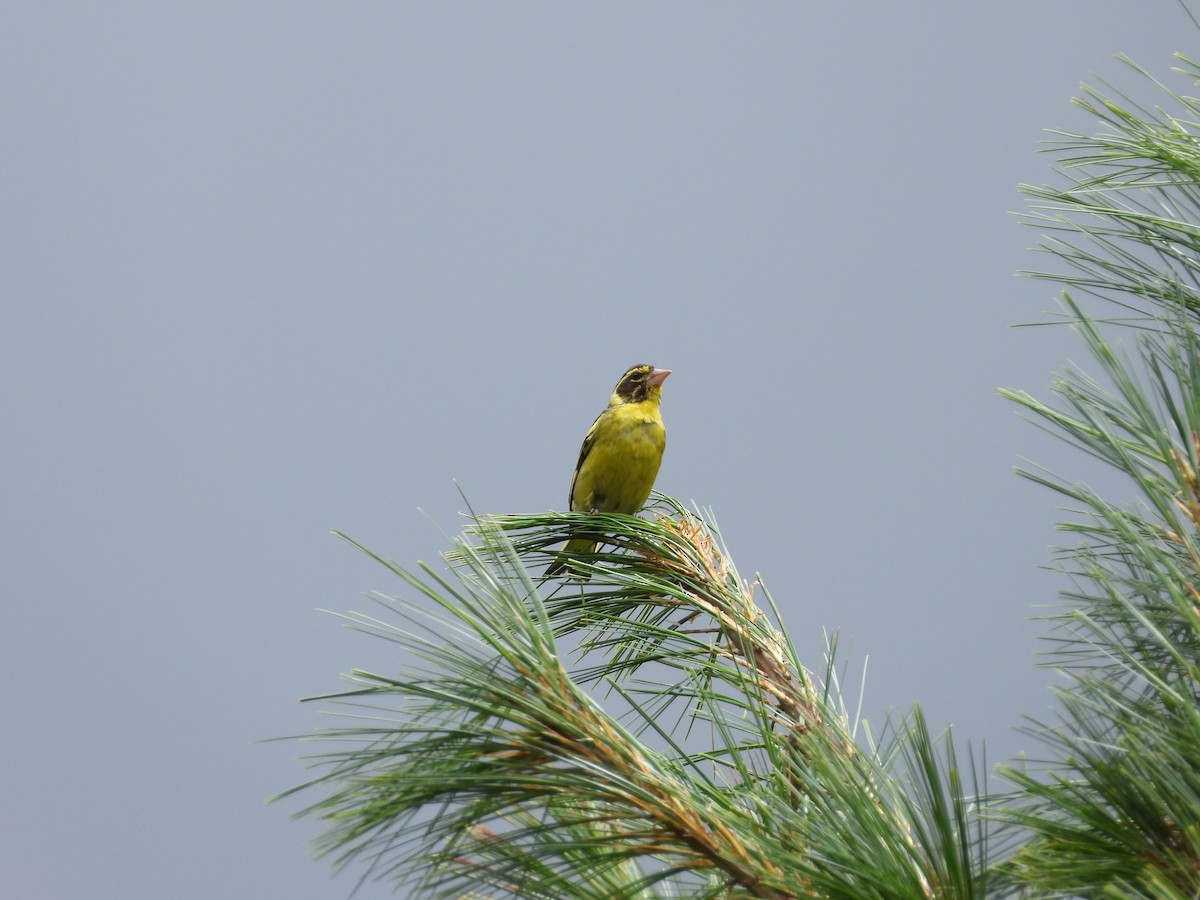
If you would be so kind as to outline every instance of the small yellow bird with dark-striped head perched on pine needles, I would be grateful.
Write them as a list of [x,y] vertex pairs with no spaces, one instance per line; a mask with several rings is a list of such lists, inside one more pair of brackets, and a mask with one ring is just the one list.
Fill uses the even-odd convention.
[[[592,422],[580,448],[568,494],[572,512],[631,516],[646,504],[667,444],[659,403],[668,374],[670,368],[641,364],[617,382],[608,406]],[[546,575],[563,571],[568,554],[595,552],[596,542],[590,535],[566,541]]]

